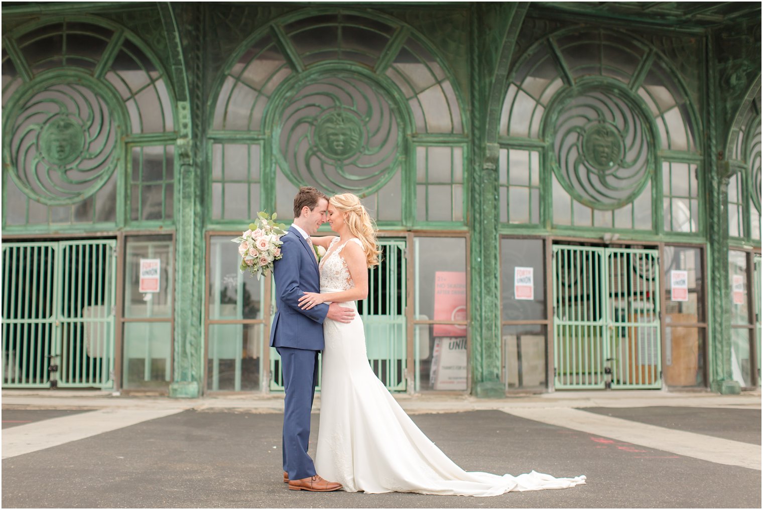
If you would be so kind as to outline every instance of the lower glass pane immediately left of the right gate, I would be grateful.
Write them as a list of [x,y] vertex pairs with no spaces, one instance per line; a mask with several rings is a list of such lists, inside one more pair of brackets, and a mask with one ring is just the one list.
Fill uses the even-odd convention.
[[546,326],[504,326],[506,389],[546,389]]

